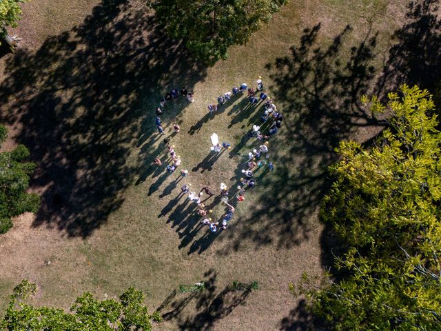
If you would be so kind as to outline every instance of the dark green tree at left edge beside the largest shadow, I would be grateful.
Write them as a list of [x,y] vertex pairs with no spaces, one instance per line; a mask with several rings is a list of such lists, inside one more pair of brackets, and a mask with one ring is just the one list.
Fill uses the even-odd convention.
[[[6,128],[0,126],[0,143],[6,139]],[[19,145],[11,152],[0,153],[0,234],[12,227],[11,217],[23,212],[37,212],[40,199],[37,194],[28,194],[29,176],[35,165],[23,162],[29,157],[25,146]]]

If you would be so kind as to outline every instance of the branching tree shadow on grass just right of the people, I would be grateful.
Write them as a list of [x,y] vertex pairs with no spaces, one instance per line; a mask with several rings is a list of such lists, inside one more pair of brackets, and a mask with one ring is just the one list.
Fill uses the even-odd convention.
[[276,168],[256,181],[258,203],[223,236],[232,242],[229,249],[239,250],[247,242],[256,248],[271,243],[290,248],[307,240],[309,219],[329,187],[327,167],[336,161],[334,148],[357,128],[377,125],[359,104],[375,73],[376,34],[368,32],[350,48],[349,26],[327,47],[316,43],[319,32],[320,24],[305,29],[289,56],[267,65],[275,82],[271,95],[284,114],[283,128],[269,141]]

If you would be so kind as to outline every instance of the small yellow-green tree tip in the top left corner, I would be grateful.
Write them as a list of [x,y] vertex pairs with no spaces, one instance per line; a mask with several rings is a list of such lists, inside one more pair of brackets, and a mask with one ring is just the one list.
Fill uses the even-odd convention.
[[11,50],[17,47],[17,37],[11,37],[8,34],[8,27],[17,27],[17,22],[21,19],[21,3],[25,0],[1,0],[0,1],[0,37],[5,40]]

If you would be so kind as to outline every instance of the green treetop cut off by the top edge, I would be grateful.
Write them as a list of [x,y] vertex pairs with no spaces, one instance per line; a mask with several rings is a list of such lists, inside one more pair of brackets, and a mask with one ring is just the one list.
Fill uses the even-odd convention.
[[229,46],[246,43],[287,0],[153,0],[174,38],[207,63],[227,58]]

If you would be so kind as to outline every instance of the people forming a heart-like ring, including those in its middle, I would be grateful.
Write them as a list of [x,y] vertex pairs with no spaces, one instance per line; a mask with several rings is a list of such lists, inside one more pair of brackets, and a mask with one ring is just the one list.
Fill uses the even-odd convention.
[[[246,83],[240,84],[239,87],[232,88],[232,91],[228,91],[222,95],[220,95],[217,98],[218,103],[217,104],[210,104],[208,105],[208,110],[210,114],[214,114],[218,110],[220,106],[222,106],[224,103],[226,103],[228,100],[232,99],[234,96],[240,96],[245,94],[247,92],[249,103],[251,106],[257,106],[260,102],[265,103],[265,111],[260,116],[260,121],[262,124],[260,126],[254,124],[252,128],[247,132],[248,137],[255,137],[257,138],[261,144],[260,146],[254,148],[252,151],[248,153],[248,159],[247,159],[247,168],[241,170],[242,174],[245,178],[240,178],[240,183],[237,186],[238,193],[236,194],[236,201],[237,203],[245,200],[245,190],[254,188],[256,185],[256,181],[254,180],[254,171],[267,167],[267,170],[272,171],[274,170],[274,164],[269,161],[269,153],[268,153],[268,140],[269,138],[276,134],[278,132],[278,129],[282,126],[283,121],[283,115],[281,112],[279,112],[276,108],[276,105],[274,102],[267,96],[267,94],[263,91],[263,82],[261,77],[256,81],[257,87],[256,90],[253,88],[248,88]],[[169,102],[172,102],[174,99],[178,99],[179,94],[181,94],[181,97],[184,97],[189,101],[190,103],[194,102],[193,93],[189,93],[187,91],[187,88],[183,87],[181,89],[181,93],[176,89],[172,89],[170,92],[165,94],[165,97],[161,98],[161,101],[159,103],[159,107],[156,108],[156,127],[158,129],[159,134],[164,134],[164,128],[161,125],[162,121],[160,116],[163,114],[163,109],[165,108],[166,104]],[[258,97],[256,97],[258,95]],[[265,124],[269,123],[269,121],[272,120],[272,123],[269,124],[269,126],[266,126],[266,128],[263,128]],[[175,133],[178,133],[181,128],[174,123],[173,124],[173,130]],[[267,134],[264,134],[264,132],[267,132]],[[215,136],[215,140],[213,137]],[[170,145],[170,139],[165,138],[163,139],[163,143],[165,143],[165,146],[168,149],[168,152],[171,157],[171,164],[167,165],[166,170],[167,172],[174,172],[176,168],[178,168],[179,165],[181,165],[181,156],[176,154],[175,146]],[[218,142],[217,134],[212,134],[212,148],[211,150],[215,153],[219,153],[225,150],[230,150],[231,145],[230,143],[224,142],[220,144]],[[263,157],[265,156],[265,157]],[[159,158],[154,159],[155,165],[162,165],[162,161]],[[181,176],[187,177],[188,170],[182,169],[181,170]],[[227,185],[225,183],[220,183],[220,194],[218,194],[221,199],[220,201],[224,203],[224,205],[227,207],[227,211],[225,214],[223,214],[222,221],[221,222],[213,222],[212,218],[209,217],[209,214],[213,212],[213,210],[206,210],[206,206],[201,200],[201,197],[203,196],[203,192],[205,194],[209,195],[209,198],[216,195],[214,192],[212,192],[212,189],[209,186],[204,186],[201,188],[198,194],[196,192],[190,191],[191,189],[190,183],[184,184],[181,187],[181,192],[183,194],[188,193],[188,199],[198,205],[197,213],[201,217],[203,217],[203,220],[201,221],[202,225],[208,225],[209,230],[211,232],[217,232],[219,228],[222,228],[223,230],[227,229],[228,222],[234,217],[234,212],[236,211],[236,208],[234,208],[234,205],[229,203],[229,190],[227,189]],[[207,199],[209,199],[207,198]]]

